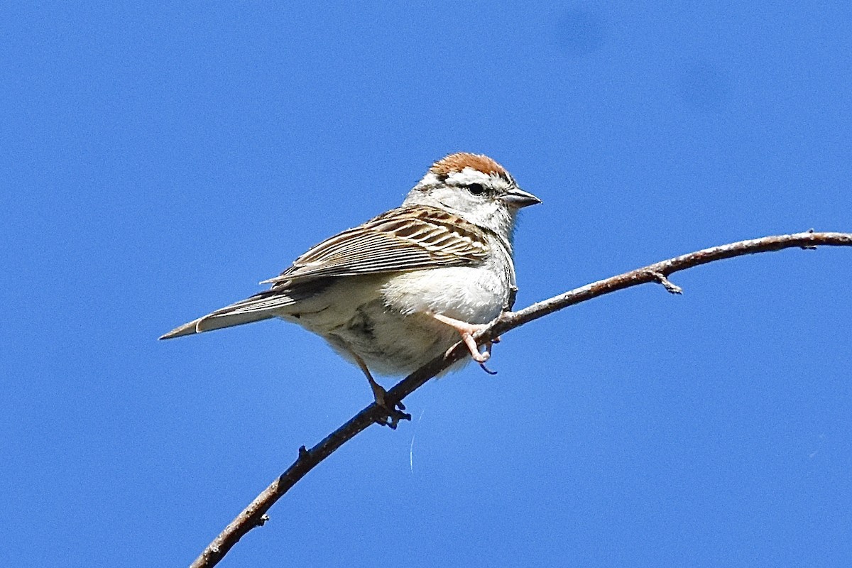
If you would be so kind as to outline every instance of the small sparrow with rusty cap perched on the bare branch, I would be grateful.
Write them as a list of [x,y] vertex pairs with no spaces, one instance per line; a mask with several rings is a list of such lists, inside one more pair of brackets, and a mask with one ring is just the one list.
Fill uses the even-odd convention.
[[371,370],[407,375],[459,337],[484,363],[490,348],[480,353],[473,334],[515,301],[515,216],[538,203],[492,158],[451,154],[432,164],[400,207],[317,244],[264,280],[269,290],[160,339],[268,318],[291,321],[364,371],[392,420],[383,423],[395,426],[409,416],[385,405],[386,391]]

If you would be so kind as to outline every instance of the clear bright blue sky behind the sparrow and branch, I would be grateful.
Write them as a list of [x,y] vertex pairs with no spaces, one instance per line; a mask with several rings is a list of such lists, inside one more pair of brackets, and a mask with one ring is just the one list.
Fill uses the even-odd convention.
[[[544,200],[519,306],[852,231],[849,29],[840,2],[6,6],[0,564],[187,565],[370,402],[296,326],[156,338],[446,153]],[[430,382],[222,565],[849,565],[852,250],[673,280]]]

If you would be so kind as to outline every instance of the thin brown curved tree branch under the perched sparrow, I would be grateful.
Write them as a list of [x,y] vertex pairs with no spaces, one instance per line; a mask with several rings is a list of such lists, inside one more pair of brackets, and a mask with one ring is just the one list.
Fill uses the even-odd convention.
[[[740,241],[738,243],[723,244],[710,249],[699,250],[681,255],[667,261],[657,262],[648,267],[638,268],[629,273],[619,274],[612,278],[598,280],[592,284],[586,284],[576,290],[570,290],[564,294],[556,295],[548,300],[539,301],[532,306],[525,307],[518,312],[502,314],[494,320],[488,328],[475,336],[478,344],[491,341],[495,337],[503,335],[509,330],[514,330],[523,324],[542,318],[550,313],[559,311],[565,307],[579,304],[582,301],[591,300],[597,296],[609,294],[616,290],[624,290],[638,284],[649,282],[659,283],[672,294],[680,294],[682,290],[675,284],[671,284],[668,276],[687,268],[697,267],[713,261],[721,261],[734,256],[752,255],[758,252],[769,252],[792,247],[802,249],[815,249],[817,245],[852,246],[852,233],[843,232],[797,232],[790,235],[777,235],[774,237],[754,238]],[[451,364],[468,356],[467,347],[459,342],[442,357],[433,359],[420,369],[396,384],[390,389],[386,403],[393,406],[394,402],[404,399],[417,388],[438,375]],[[383,410],[376,404],[370,404],[364,410],[353,416],[343,426],[325,437],[319,444],[310,450],[305,446],[299,448],[296,462],[281,473],[272,485],[269,485],[236,519],[233,519],[225,530],[216,539],[204,548],[204,552],[193,562],[191,568],[201,568],[216,565],[222,557],[227,554],[234,544],[248,531],[256,526],[263,525],[268,517],[266,512],[279,500],[296,482],[305,476],[317,464],[330,456],[349,439],[354,438],[357,433],[366,429],[372,423],[383,417]]]

